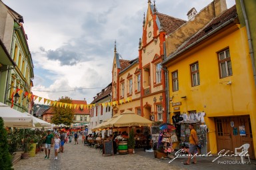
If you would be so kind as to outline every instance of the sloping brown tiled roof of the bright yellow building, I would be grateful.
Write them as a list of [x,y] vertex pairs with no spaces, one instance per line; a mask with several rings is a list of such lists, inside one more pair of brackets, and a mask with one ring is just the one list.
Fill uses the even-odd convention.
[[[180,52],[183,52],[185,48],[189,48],[189,46],[195,45],[199,42],[199,40],[203,40],[203,37],[206,35],[211,35],[211,33],[214,33],[218,27],[221,25],[224,25],[228,21],[231,21],[231,19],[238,19],[237,17],[237,9],[235,5],[229,9],[227,9],[225,12],[223,12],[219,17],[213,19],[208,25],[205,26],[204,29],[197,32],[189,41],[184,42],[167,60],[165,60],[163,63],[166,63],[168,60],[171,60],[171,58],[175,57]],[[206,37],[205,37],[206,38]]]

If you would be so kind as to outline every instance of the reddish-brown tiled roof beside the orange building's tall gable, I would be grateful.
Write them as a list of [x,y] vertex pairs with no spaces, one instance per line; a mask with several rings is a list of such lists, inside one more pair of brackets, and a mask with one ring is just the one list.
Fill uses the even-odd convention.
[[161,23],[161,27],[163,27],[163,30],[166,32],[166,35],[173,33],[173,31],[175,31],[177,28],[187,22],[182,19],[177,19],[175,17],[171,17],[162,13],[157,13],[157,16]]

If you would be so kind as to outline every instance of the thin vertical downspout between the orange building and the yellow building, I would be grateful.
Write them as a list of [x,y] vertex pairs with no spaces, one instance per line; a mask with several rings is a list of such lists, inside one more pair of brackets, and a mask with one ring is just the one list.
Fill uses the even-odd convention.
[[[164,60],[166,59],[166,49],[165,49],[165,41],[163,42],[163,54],[164,54]],[[170,114],[170,108],[169,108],[169,71],[166,68],[163,68],[165,70],[165,102],[166,102],[166,107],[167,107],[167,112],[166,112],[166,118],[167,118],[167,123],[170,122],[169,119],[169,114]]]

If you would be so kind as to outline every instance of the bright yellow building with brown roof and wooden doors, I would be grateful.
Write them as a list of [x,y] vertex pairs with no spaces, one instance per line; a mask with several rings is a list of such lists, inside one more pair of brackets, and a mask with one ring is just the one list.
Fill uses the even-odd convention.
[[[223,1],[214,3],[221,7]],[[212,5],[207,9],[214,9]],[[249,143],[249,155],[255,159],[256,92],[246,29],[239,25],[235,6],[219,9],[210,10],[216,17],[176,48],[171,43],[175,36],[168,35],[163,64],[169,71],[171,117],[203,112],[209,129],[207,151],[225,149],[231,154]]]

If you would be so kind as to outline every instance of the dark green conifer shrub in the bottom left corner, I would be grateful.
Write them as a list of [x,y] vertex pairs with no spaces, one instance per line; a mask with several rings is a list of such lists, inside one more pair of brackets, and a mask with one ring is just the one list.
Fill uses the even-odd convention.
[[9,170],[13,166],[8,150],[7,131],[3,128],[3,118],[0,117],[0,170]]

